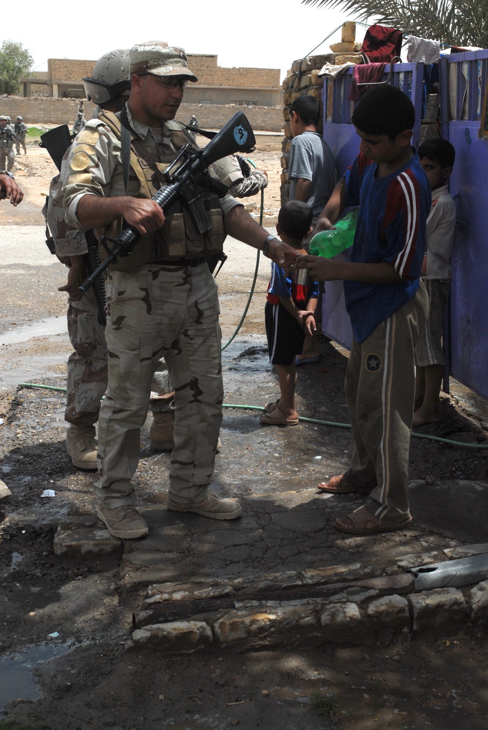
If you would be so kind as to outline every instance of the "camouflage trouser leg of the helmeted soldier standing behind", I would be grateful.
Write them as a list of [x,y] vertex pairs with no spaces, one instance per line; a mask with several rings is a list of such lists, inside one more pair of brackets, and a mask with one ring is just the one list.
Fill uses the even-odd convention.
[[68,358],[64,420],[87,426],[98,420],[108,378],[105,327],[90,292],[69,304],[68,334],[74,352]]

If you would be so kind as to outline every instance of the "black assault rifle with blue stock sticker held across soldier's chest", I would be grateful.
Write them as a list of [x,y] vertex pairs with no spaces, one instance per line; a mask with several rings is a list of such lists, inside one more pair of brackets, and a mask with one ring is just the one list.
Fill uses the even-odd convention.
[[[252,127],[242,112],[233,115],[233,118],[217,132],[215,137],[203,150],[195,150],[192,145],[185,145],[179,151],[177,158],[165,172],[167,185],[163,185],[152,197],[163,212],[167,212],[177,201],[187,207],[195,226],[195,231],[204,234],[210,231],[212,223],[209,214],[201,199],[204,188],[211,190],[222,197],[227,192],[225,185],[212,178],[209,166],[227,155],[236,152],[252,152],[255,145],[255,136]],[[88,291],[96,277],[117,261],[119,256],[128,256],[133,247],[141,238],[136,228],[127,226],[117,239],[102,236],[101,245],[108,254],[100,266],[80,286],[80,291]],[[112,244],[112,248],[107,245]]]

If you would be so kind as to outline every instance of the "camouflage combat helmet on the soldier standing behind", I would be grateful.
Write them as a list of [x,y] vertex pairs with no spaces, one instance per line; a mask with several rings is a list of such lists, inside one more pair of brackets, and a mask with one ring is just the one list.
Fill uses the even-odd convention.
[[106,104],[121,94],[131,91],[128,48],[116,48],[98,59],[93,76],[83,77],[83,85],[88,101]]

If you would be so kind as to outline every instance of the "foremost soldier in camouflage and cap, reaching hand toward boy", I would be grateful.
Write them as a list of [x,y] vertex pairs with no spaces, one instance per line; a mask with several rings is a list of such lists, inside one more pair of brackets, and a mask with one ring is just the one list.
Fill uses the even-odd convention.
[[[241,514],[233,499],[209,490],[222,420],[222,368],[217,285],[205,256],[222,249],[225,233],[269,253],[279,266],[295,250],[270,237],[231,196],[204,191],[213,228],[195,233],[187,211],[166,217],[152,194],[163,172],[193,137],[174,116],[188,80],[185,52],[165,42],[131,49],[131,96],[120,115],[89,120],[66,163],[66,220],[97,237],[116,237],[125,221],[141,239],[133,253],[109,267],[106,342],[109,387],[98,426],[98,516],[116,537],[147,534],[135,510],[131,478],[139,461],[140,429],[147,414],[152,374],[165,356],[174,385],[174,450],[168,509],[217,519]],[[122,121],[121,121],[122,120]],[[125,185],[121,123],[130,131]],[[125,142],[124,142],[125,144]],[[125,154],[128,148],[124,148]]]

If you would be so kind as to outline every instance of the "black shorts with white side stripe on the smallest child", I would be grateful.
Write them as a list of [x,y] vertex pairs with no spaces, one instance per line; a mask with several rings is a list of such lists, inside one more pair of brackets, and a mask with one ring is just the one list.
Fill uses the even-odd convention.
[[267,301],[264,320],[271,365],[291,365],[302,353],[305,332],[282,304]]

